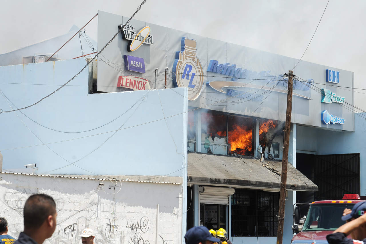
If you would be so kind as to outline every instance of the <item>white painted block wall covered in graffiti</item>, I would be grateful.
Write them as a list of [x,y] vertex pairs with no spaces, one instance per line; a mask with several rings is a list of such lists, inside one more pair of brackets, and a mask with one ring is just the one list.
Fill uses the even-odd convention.
[[181,184],[122,181],[121,188],[121,181],[105,180],[100,188],[101,180],[0,175],[0,216],[11,236],[23,230],[26,199],[45,193],[55,199],[58,213],[55,233],[45,244],[81,244],[84,228],[94,229],[96,244],[155,244],[157,204],[158,244],[182,243]]

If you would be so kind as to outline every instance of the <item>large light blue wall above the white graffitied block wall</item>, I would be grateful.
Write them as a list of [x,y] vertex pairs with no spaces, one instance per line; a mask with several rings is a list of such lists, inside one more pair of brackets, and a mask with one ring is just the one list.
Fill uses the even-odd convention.
[[[3,66],[0,89],[16,107],[27,106],[56,90],[85,64],[81,58]],[[51,97],[21,110],[51,129],[20,111],[0,114],[3,170],[25,171],[23,165],[36,163],[36,173],[42,174],[187,177],[186,88],[88,94],[87,85],[88,69]],[[0,94],[0,109],[9,110],[10,105]],[[65,133],[87,130],[91,131]],[[79,159],[75,166],[70,164]]]

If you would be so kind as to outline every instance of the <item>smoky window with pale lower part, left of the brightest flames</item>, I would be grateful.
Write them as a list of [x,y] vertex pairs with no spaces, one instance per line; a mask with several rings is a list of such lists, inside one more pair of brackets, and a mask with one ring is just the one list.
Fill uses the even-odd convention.
[[201,152],[227,154],[227,116],[214,112],[201,113]]

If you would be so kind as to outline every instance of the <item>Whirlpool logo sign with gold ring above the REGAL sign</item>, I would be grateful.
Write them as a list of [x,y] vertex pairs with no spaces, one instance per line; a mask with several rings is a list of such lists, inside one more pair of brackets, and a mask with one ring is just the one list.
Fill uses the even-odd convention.
[[141,30],[134,31],[135,28],[131,25],[119,25],[118,28],[122,29],[122,38],[130,41],[127,46],[129,52],[137,50],[143,44],[154,45],[153,36],[150,35],[150,26],[142,27]]

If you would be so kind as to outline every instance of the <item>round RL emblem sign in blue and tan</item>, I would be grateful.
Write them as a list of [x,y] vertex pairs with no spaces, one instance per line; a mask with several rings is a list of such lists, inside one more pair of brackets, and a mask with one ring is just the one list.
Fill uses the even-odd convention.
[[180,44],[181,49],[175,53],[173,64],[173,85],[188,87],[188,100],[195,100],[203,87],[203,68],[196,56],[197,42],[183,37]]

